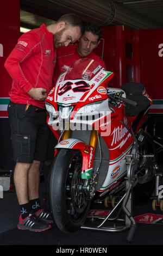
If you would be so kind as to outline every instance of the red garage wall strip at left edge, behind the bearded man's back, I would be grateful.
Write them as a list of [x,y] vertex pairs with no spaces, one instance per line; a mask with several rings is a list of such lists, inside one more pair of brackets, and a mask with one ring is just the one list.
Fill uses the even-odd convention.
[[0,3],[0,168],[12,169],[9,121],[7,118],[8,92],[11,78],[4,69],[9,56],[20,36],[20,1],[5,0]]

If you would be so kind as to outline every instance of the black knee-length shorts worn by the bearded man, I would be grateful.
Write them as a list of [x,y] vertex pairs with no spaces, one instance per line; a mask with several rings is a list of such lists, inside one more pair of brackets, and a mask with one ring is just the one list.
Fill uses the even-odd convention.
[[46,123],[46,111],[26,104],[10,101],[8,116],[11,127],[13,160],[32,163],[45,161],[50,129]]

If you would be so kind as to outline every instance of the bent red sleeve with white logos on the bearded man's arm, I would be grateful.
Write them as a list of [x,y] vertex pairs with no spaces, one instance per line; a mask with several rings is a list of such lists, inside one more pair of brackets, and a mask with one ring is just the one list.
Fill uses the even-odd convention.
[[8,71],[12,80],[14,80],[20,88],[28,92],[33,85],[26,78],[21,64],[27,58],[34,55],[39,47],[39,40],[34,33],[24,33],[17,41],[15,48],[11,51],[9,57],[4,63],[5,69]]

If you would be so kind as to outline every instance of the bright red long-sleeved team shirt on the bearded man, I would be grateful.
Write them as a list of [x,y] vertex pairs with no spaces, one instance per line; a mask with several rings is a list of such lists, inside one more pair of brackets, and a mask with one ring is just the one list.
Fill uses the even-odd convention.
[[45,101],[34,100],[27,92],[34,87],[45,88],[49,93],[53,87],[55,59],[53,33],[44,24],[24,33],[5,62],[12,78],[10,100],[43,108]]

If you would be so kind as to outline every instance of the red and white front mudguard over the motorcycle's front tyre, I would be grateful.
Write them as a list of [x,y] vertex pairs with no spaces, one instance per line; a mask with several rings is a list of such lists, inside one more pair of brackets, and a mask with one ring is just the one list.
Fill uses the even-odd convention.
[[87,145],[85,142],[79,139],[69,138],[59,142],[55,149],[67,148],[67,149],[79,149],[83,156],[82,164],[82,179],[89,179],[92,175],[94,149],[91,145]]

